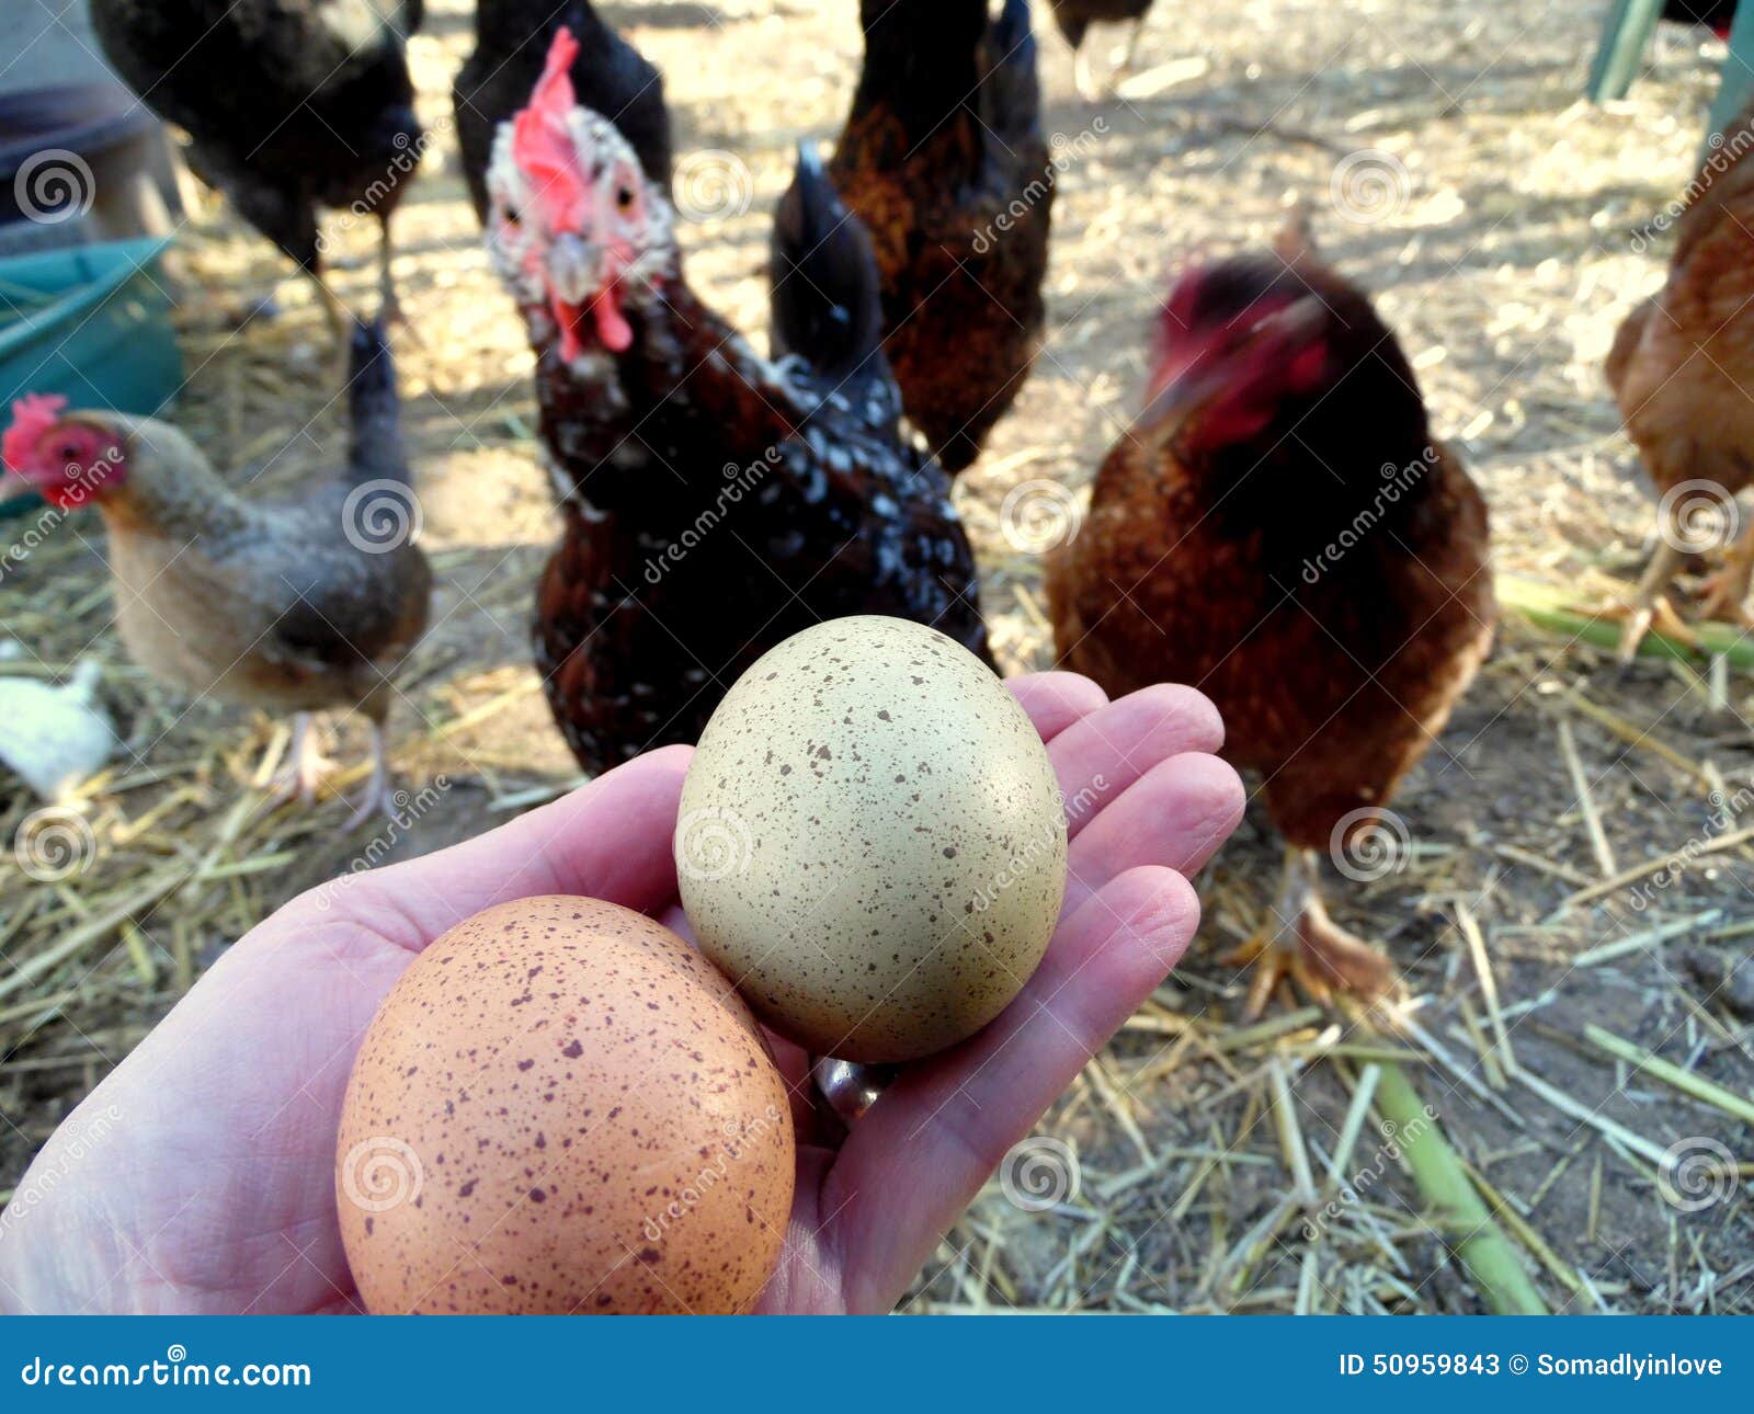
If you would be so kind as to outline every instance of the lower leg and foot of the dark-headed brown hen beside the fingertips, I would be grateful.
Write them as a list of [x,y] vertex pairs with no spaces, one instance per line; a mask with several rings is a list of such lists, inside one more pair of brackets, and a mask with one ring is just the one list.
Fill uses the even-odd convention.
[[1319,1002],[1328,1002],[1335,991],[1373,1000],[1394,981],[1387,958],[1328,916],[1316,875],[1316,854],[1289,844],[1279,903],[1254,937],[1228,954],[1224,963],[1254,967],[1242,1009],[1249,1021],[1261,1014],[1286,977]]

